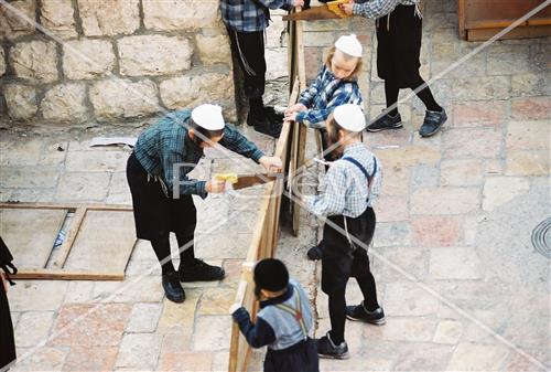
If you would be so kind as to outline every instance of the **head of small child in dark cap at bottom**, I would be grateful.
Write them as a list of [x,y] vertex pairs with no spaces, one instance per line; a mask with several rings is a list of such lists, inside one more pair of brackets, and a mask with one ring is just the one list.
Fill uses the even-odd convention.
[[257,298],[280,296],[289,284],[285,264],[276,258],[259,261],[255,266],[255,294]]

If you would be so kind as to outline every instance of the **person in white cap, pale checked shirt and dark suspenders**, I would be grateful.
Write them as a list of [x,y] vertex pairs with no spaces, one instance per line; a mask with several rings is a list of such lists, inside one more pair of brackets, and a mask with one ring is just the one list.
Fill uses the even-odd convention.
[[[365,127],[359,106],[335,108],[326,121],[327,138],[336,147],[333,151],[342,157],[325,176],[325,192],[304,198],[310,212],[326,217],[321,242],[322,290],[328,296],[332,329],[317,341],[317,353],[323,358],[349,358],[344,339],[346,318],[385,323],[367,256],[376,222],[371,205],[379,194],[382,174],[377,157],[361,142]],[[345,290],[350,276],[358,281],[364,301],[347,307]]]

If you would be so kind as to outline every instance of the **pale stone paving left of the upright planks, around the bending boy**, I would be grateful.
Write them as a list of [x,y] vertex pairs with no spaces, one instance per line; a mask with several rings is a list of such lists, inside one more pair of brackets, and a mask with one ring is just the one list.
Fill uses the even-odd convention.
[[[273,140],[248,128],[245,131],[262,149],[273,151]],[[94,135],[2,131],[1,200],[131,204],[125,176],[129,150],[89,148]],[[259,170],[252,161],[222,159],[214,151],[199,168],[196,173],[203,179],[216,171]],[[257,187],[237,195],[195,200],[197,256],[222,264],[228,275],[220,283],[184,285],[187,299],[183,305],[164,298],[159,268],[142,277],[158,267],[149,243],[142,241],[123,281],[19,281],[9,291],[21,359],[13,371],[227,370],[227,311],[261,191]],[[83,319],[68,326],[78,317]]]

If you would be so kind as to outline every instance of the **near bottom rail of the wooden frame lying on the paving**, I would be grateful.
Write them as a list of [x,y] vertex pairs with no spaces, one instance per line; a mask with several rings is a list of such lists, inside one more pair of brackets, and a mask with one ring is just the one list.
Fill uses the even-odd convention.
[[87,273],[53,268],[20,268],[14,279],[34,280],[123,280],[125,273]]

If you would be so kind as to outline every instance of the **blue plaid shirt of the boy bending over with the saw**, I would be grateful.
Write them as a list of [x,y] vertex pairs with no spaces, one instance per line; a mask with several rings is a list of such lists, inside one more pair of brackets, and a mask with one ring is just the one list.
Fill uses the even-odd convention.
[[[134,147],[134,155],[143,169],[152,176],[161,177],[166,188],[173,190],[180,183],[180,194],[196,194],[206,198],[206,181],[190,180],[190,173],[203,157],[203,149],[187,136],[185,125],[190,121],[191,110],[174,111],[161,118],[145,129]],[[255,144],[230,125],[224,128],[224,137],[219,145],[242,155],[256,162],[264,155]],[[176,180],[175,168],[180,168],[180,180]]]

